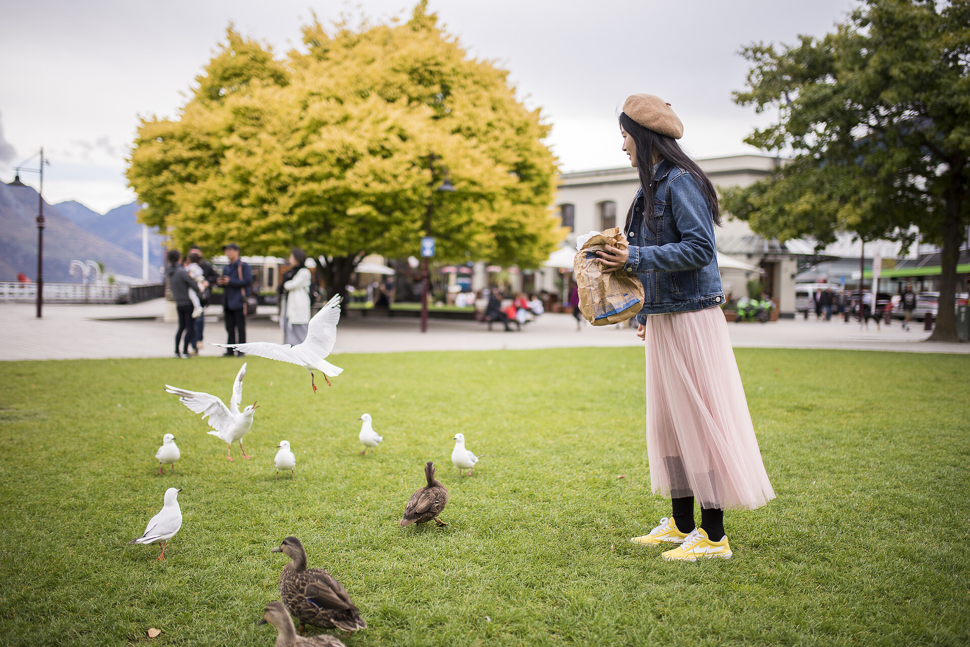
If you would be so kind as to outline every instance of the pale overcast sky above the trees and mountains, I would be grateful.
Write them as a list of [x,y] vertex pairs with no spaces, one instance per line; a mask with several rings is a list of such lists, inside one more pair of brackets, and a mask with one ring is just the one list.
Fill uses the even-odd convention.
[[[45,146],[45,196],[107,211],[134,200],[123,175],[138,116],[172,116],[229,21],[282,55],[311,12],[372,18],[410,0],[0,0],[0,179]],[[669,102],[695,157],[757,152],[743,143],[774,114],[731,103],[753,41],[821,36],[852,0],[431,0],[475,57],[510,71],[522,98],[553,124],[563,170],[625,166],[616,114],[635,92]],[[13,147],[13,149],[11,149]],[[36,164],[33,166],[36,167]],[[36,186],[36,174],[21,179]]]

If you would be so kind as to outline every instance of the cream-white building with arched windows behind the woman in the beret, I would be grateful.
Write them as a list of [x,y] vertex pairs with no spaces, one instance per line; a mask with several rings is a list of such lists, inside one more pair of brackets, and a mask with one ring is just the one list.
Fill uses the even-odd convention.
[[[748,186],[767,175],[779,160],[764,155],[734,155],[697,160],[715,187]],[[602,169],[563,173],[560,176],[556,208],[564,227],[571,231],[566,244],[575,248],[576,235],[623,227],[630,202],[636,195],[639,178],[636,169]],[[724,214],[724,227],[716,230],[718,252],[723,255],[721,278],[726,294],[747,293],[747,282],[760,277],[765,290],[778,302],[783,317],[794,316],[794,279],[803,265],[812,262],[812,254],[795,254],[777,241],[755,234],[744,221]],[[727,260],[724,259],[727,257]],[[754,265],[757,270],[728,268],[733,260],[741,265]],[[535,289],[559,293],[566,290],[569,273],[545,268],[535,277]]]

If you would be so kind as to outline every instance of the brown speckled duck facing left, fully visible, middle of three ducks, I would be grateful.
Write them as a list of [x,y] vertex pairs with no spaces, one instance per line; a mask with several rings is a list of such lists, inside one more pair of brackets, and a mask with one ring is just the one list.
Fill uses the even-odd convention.
[[347,590],[333,575],[323,569],[307,570],[307,551],[300,539],[287,537],[273,552],[283,553],[291,560],[279,573],[279,597],[300,621],[301,633],[307,625],[336,627],[347,635],[367,629]]

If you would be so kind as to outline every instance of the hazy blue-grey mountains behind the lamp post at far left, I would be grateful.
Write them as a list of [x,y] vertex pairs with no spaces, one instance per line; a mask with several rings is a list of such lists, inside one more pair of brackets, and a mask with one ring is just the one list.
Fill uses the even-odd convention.
[[[17,272],[23,272],[32,280],[37,278],[37,201],[37,191],[33,187],[12,187],[0,182],[0,280],[13,281]],[[87,208],[75,202],[65,210],[82,218],[84,213],[78,207]],[[134,219],[134,211],[130,209],[129,213]],[[104,217],[107,215],[97,216]],[[78,281],[79,277],[72,277],[69,273],[72,260],[101,262],[108,273],[142,276],[141,242],[138,254],[132,253],[125,247],[85,231],[62,213],[58,206],[47,202],[44,205],[44,219],[45,281]],[[154,267],[157,268],[159,264],[155,262]]]

